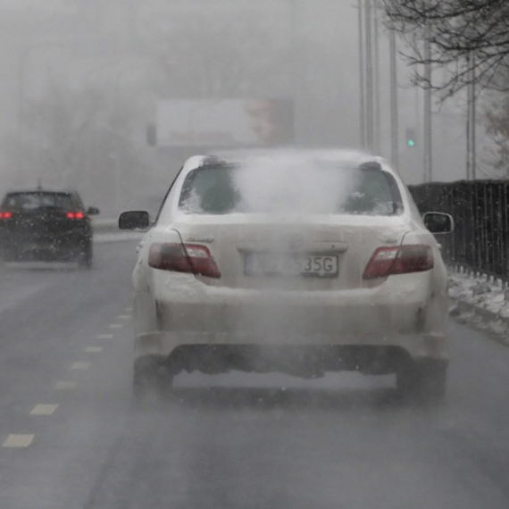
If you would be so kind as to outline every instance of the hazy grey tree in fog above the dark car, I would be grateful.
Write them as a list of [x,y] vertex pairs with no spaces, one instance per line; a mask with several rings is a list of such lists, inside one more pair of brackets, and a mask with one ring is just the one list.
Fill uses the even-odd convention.
[[[21,132],[2,140],[8,186],[84,189],[106,210],[151,174],[145,138],[127,104],[100,90],[54,87],[25,104]],[[144,151],[145,150],[145,151]],[[7,173],[7,172],[5,172]]]

